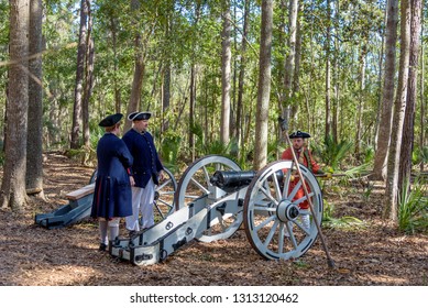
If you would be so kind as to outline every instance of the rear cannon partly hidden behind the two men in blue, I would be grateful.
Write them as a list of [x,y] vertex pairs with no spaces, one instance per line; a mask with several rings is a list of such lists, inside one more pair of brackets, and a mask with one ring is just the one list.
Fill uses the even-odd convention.
[[[177,188],[177,182],[169,169],[165,168],[164,172],[165,178],[156,186],[155,190],[155,223],[162,221],[175,210],[174,193]],[[67,205],[61,206],[48,213],[35,215],[35,223],[47,229],[58,229],[88,218],[92,206],[96,178],[97,169],[92,173],[87,186],[66,195]]]

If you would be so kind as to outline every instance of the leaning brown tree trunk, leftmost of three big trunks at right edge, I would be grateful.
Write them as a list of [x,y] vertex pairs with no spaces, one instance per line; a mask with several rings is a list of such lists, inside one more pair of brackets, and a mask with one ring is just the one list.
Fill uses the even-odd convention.
[[387,3],[386,38],[385,38],[385,74],[382,89],[382,112],[377,136],[376,155],[374,157],[373,179],[385,179],[386,162],[391,140],[391,127],[394,102],[394,76],[398,24],[398,0]]

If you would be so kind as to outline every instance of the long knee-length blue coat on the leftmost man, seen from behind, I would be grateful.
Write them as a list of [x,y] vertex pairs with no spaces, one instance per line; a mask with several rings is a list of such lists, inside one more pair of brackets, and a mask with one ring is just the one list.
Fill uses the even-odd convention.
[[98,175],[95,185],[92,218],[111,219],[132,215],[129,168],[133,157],[124,142],[106,133],[97,145]]

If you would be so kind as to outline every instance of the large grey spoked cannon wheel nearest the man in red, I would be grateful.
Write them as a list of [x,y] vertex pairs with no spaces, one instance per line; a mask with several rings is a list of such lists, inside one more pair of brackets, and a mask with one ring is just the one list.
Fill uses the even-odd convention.
[[[322,195],[314,174],[303,165],[303,179],[292,161],[262,168],[251,182],[244,199],[244,227],[253,249],[266,260],[297,258],[314,244],[318,229],[307,197],[297,197],[304,182],[318,223],[322,219]],[[301,190],[300,190],[301,191]]]

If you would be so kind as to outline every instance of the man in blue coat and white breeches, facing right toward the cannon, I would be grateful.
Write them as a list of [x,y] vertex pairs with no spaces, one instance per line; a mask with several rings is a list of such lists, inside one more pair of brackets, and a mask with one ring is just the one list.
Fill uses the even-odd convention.
[[139,215],[142,215],[142,229],[154,224],[153,200],[155,185],[163,178],[164,167],[158,158],[153,136],[147,132],[150,112],[133,112],[128,116],[132,121],[132,129],[123,135],[123,141],[131,152],[134,164],[132,177],[135,186],[132,187],[132,216],[125,218],[130,235],[140,231]]

